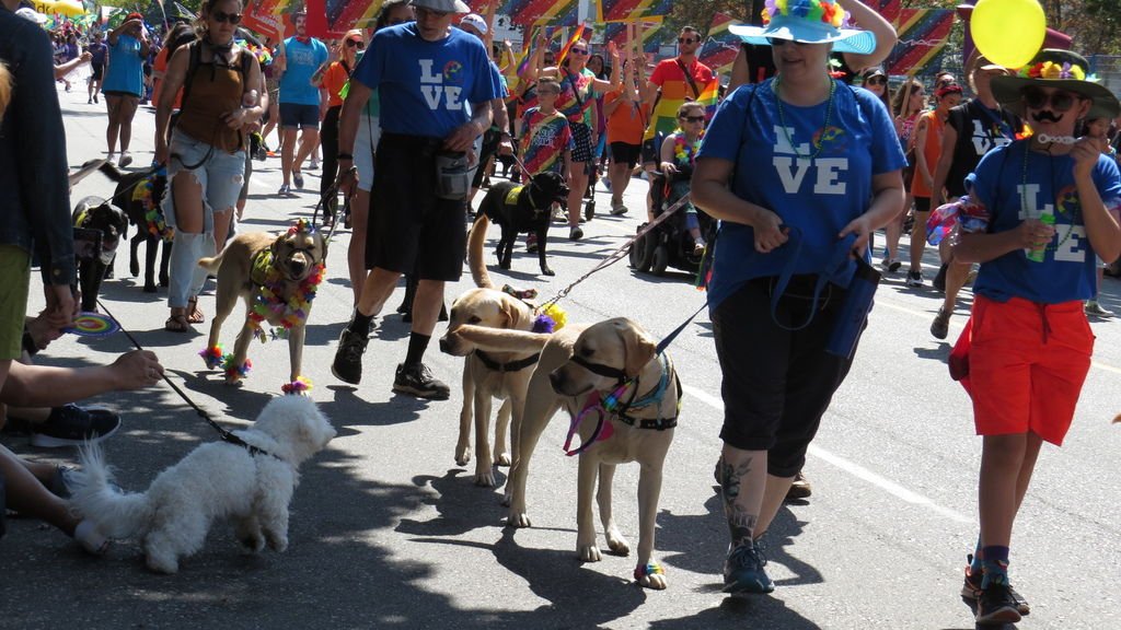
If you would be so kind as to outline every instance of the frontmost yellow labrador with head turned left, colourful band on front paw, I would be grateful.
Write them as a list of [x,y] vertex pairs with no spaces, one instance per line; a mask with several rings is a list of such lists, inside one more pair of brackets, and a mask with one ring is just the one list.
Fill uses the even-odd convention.
[[[526,393],[526,407],[517,436],[516,458],[507,484],[508,525],[529,527],[526,513],[526,479],[541,432],[564,408],[582,444],[577,475],[576,552],[583,562],[599,562],[592,498],[600,507],[608,548],[621,555],[630,545],[615,527],[611,512],[611,482],[615,465],[638,462],[639,544],[634,578],[649,589],[665,589],[666,576],[654,559],[655,520],[661,492],[661,470],[677,425],[680,387],[671,363],[656,353],[655,341],[626,318],[608,319],[589,327],[565,326],[553,335],[504,333],[495,335],[465,327],[478,348],[524,349],[540,346]],[[569,437],[572,435],[569,434]],[[596,492],[599,480],[599,492]]]

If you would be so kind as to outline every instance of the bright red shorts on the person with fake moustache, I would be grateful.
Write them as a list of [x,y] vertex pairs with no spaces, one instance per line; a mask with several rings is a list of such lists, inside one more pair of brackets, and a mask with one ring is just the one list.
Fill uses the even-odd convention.
[[973,302],[969,390],[978,435],[1035,433],[1063,444],[1094,335],[1081,300]]

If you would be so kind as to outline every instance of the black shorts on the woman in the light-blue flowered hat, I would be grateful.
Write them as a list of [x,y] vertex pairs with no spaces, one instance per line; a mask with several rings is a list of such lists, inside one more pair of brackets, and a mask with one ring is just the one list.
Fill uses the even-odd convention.
[[[816,276],[795,276],[776,317],[785,326],[806,319]],[[806,461],[833,392],[852,361],[825,351],[844,291],[822,291],[813,322],[796,332],[771,318],[773,278],[747,282],[712,313],[716,355],[724,380],[724,443],[743,451],[767,451],[767,472],[794,476]],[[859,340],[858,340],[859,344]]]

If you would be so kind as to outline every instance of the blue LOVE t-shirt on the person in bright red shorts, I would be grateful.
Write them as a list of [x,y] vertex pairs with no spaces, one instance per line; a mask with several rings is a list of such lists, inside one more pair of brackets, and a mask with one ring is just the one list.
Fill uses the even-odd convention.
[[[1055,215],[1055,235],[1043,262],[1028,260],[1023,250],[1016,250],[982,263],[973,293],[997,302],[1012,297],[1043,304],[1090,299],[1096,282],[1096,257],[1074,185],[1074,160],[1068,155],[1050,157],[1030,151],[1028,145],[1018,141],[993,149],[978,164],[970,183],[973,196],[988,211],[989,222],[988,226],[982,223],[970,228],[1004,232],[1025,219],[1038,219],[1046,209]],[[1097,158],[1093,180],[1106,206],[1121,197],[1121,174],[1110,157]]]

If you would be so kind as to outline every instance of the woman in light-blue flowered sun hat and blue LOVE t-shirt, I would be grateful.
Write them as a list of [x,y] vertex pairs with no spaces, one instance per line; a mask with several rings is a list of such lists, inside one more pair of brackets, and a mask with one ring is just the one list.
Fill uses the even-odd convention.
[[[837,251],[842,262],[846,247],[867,261],[871,232],[902,210],[906,160],[888,110],[827,72],[831,50],[876,48],[871,33],[844,20],[833,0],[773,0],[765,26],[732,27],[772,46],[778,74],[721,103],[693,175],[694,204],[722,221],[708,304],[724,374],[716,476],[730,593],[773,590],[758,539],[852,364],[825,350],[846,291],[831,284],[827,299],[807,296],[819,277],[835,277],[826,269]],[[775,289],[787,271],[785,291]]]

